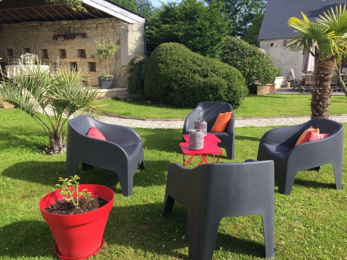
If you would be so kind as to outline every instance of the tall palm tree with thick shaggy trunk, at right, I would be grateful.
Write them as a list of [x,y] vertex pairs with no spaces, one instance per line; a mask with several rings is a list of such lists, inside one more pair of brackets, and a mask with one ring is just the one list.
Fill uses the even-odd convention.
[[311,90],[311,118],[328,118],[328,107],[332,89],[330,88],[333,70],[336,68],[336,59],[347,53],[347,10],[346,4],[342,8],[336,6],[335,11],[324,12],[320,18],[310,21],[301,12],[303,19],[291,17],[288,25],[297,30],[288,48],[292,51],[311,51],[312,43],[318,50],[318,62],[314,67],[314,87]]

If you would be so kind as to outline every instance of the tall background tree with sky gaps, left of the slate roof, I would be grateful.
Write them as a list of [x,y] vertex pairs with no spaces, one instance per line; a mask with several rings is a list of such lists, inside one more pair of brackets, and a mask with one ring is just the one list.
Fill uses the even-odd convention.
[[267,2],[266,0],[218,1],[224,2],[225,15],[231,21],[231,35],[237,37],[243,37],[256,15],[264,13]]

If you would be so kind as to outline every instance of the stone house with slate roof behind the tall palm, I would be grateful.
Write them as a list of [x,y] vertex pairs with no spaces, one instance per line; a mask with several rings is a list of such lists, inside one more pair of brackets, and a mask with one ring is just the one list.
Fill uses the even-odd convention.
[[[302,52],[292,52],[285,49],[287,43],[298,32],[288,26],[288,19],[292,16],[302,19],[303,12],[308,19],[319,18],[320,14],[339,4],[342,0],[268,0],[263,23],[259,33],[259,47],[270,55],[279,68],[279,76],[289,77],[290,69],[294,69],[296,78],[301,79],[305,55]],[[314,49],[314,46],[313,46]],[[306,55],[314,59],[312,55]],[[311,56],[311,57],[310,57]],[[313,62],[308,62],[314,64]],[[308,68],[310,70],[311,68]]]

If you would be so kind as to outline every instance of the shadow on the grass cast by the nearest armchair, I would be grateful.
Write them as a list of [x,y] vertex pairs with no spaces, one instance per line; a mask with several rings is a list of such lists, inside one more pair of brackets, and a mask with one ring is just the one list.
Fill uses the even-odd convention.
[[[173,211],[164,217],[161,216],[162,210],[162,203],[113,207],[104,233],[105,240],[162,257],[189,259],[186,208],[175,203]],[[237,254],[265,256],[264,244],[228,234],[218,233],[215,250],[220,247]]]

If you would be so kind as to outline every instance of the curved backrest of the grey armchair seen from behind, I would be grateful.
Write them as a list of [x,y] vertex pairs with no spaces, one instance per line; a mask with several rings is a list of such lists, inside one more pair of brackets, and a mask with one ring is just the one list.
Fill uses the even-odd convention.
[[247,215],[266,203],[273,207],[273,161],[203,164],[180,171],[194,176],[195,192],[202,194],[205,205],[222,211],[223,217]]

